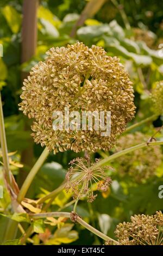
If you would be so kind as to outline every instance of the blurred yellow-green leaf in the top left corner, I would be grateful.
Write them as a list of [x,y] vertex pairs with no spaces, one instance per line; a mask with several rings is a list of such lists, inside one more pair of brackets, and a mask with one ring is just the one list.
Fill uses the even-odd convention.
[[12,33],[18,33],[22,22],[21,14],[19,14],[11,5],[6,5],[4,8],[2,8],[2,14],[7,20]]

